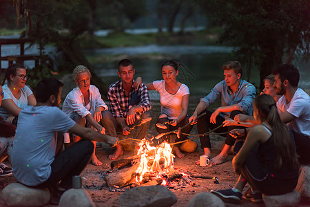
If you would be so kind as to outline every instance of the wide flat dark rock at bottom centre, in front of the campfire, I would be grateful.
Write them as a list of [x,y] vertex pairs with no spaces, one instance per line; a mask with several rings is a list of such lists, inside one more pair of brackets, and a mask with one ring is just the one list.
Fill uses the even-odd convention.
[[175,204],[176,195],[165,186],[132,188],[118,198],[120,207],[168,207]]

